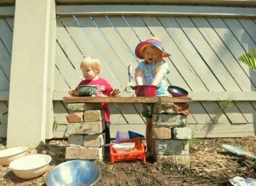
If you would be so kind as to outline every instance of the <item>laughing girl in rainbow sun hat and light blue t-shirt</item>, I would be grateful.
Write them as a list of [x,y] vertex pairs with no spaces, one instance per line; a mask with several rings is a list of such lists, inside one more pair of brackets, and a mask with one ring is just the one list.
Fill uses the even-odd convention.
[[[169,68],[162,58],[171,55],[162,49],[162,42],[155,37],[140,42],[135,48],[135,55],[144,60],[135,69],[136,84],[157,86],[156,96],[168,96],[165,75],[169,73]],[[152,155],[153,146],[151,104],[143,104],[142,116],[146,118],[147,156],[149,156]]]

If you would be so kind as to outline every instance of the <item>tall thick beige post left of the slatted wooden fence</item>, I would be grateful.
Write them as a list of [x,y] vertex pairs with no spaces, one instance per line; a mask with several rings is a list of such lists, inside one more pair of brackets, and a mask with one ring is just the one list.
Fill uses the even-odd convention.
[[16,1],[7,147],[44,144],[46,124],[53,122],[47,114],[52,113],[54,22],[55,1]]

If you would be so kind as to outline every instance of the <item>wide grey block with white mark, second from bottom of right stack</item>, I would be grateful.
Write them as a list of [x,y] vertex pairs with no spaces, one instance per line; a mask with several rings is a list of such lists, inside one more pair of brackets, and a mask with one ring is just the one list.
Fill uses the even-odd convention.
[[155,139],[155,153],[158,155],[189,155],[188,140]]

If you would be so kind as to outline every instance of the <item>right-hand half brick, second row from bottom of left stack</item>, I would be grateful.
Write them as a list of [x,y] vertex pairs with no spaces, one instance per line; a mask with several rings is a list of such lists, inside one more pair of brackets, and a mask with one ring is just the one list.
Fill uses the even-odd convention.
[[105,133],[84,136],[84,147],[102,147],[105,144]]

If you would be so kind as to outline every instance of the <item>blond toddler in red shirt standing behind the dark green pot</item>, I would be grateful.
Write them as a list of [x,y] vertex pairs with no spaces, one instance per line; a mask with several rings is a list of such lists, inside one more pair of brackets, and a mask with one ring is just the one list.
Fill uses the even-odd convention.
[[[83,77],[85,80],[82,80],[79,85],[93,85],[97,87],[96,96],[104,97],[105,95],[109,97],[115,97],[120,93],[119,89],[114,89],[109,85],[108,81],[98,77],[98,74],[101,70],[101,62],[95,57],[87,57],[83,59],[80,64],[80,69],[83,71]],[[77,86],[77,87],[78,87]],[[70,96],[77,96],[77,87],[73,90],[69,90]],[[109,125],[110,125],[110,112],[108,109],[108,104],[102,103],[102,109],[104,111],[105,117],[105,129],[103,133],[105,133],[105,146],[110,145],[110,132],[109,132]]]

